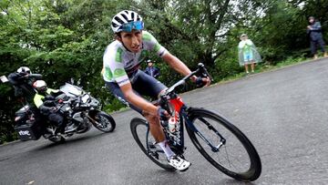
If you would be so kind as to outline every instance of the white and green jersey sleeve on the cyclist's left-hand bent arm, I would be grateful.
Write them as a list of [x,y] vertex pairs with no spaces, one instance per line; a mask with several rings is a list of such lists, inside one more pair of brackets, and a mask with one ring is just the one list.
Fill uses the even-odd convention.
[[129,83],[128,75],[124,69],[122,48],[108,46],[103,57],[103,78],[107,82],[117,82],[118,86]]

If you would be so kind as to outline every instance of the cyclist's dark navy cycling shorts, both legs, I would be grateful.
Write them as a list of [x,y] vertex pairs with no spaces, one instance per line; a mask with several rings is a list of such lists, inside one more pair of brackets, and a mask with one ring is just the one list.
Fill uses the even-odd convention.
[[[140,97],[148,96],[150,98],[157,99],[159,93],[167,88],[165,85],[159,82],[159,80],[154,77],[150,77],[141,70],[138,70],[138,72],[134,75],[133,79],[130,79],[130,82],[134,92],[139,96],[141,95]],[[135,107],[127,101],[127,99],[123,95],[122,90],[118,86],[118,83],[106,82],[105,86],[116,98],[118,98],[119,101],[121,101],[128,107],[138,111],[138,113],[142,115],[142,110],[140,108]]]

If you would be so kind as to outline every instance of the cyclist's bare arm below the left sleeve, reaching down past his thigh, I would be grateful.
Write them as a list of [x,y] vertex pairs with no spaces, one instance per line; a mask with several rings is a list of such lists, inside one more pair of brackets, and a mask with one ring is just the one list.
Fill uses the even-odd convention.
[[146,99],[139,97],[132,89],[131,83],[127,83],[123,86],[120,86],[124,97],[127,98],[128,102],[136,106],[137,108],[146,111],[151,115],[158,115],[157,111],[159,108],[149,103]]

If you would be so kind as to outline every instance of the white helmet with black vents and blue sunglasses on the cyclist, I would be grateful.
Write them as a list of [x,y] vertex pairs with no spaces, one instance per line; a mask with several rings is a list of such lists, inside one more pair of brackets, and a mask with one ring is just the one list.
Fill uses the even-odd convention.
[[144,23],[138,13],[130,10],[123,10],[115,15],[111,22],[111,28],[114,33],[121,31],[131,32],[132,29],[142,30]]

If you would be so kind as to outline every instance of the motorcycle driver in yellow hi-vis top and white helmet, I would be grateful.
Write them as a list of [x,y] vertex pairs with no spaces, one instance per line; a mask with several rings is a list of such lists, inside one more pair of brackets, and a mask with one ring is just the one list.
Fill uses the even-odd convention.
[[62,94],[60,90],[46,87],[46,82],[44,80],[36,80],[33,87],[37,92],[34,98],[36,108],[39,108],[41,114],[45,115],[49,121],[56,124],[57,128],[55,133],[70,132],[77,128],[75,124],[71,124],[65,129],[64,117],[58,111],[58,108],[56,108],[55,103],[56,96]]

